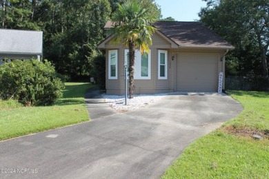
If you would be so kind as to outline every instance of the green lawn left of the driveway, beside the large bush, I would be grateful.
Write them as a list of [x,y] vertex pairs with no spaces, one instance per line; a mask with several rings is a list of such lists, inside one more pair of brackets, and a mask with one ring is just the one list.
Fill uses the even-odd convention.
[[0,140],[88,121],[84,95],[90,87],[90,83],[66,83],[63,98],[48,107],[0,101]]

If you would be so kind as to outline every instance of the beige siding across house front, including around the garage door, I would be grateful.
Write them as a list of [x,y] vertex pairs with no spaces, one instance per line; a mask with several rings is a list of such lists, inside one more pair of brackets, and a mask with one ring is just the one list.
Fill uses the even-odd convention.
[[[152,36],[152,42],[154,45],[150,46],[151,50],[151,74],[150,79],[135,79],[135,94],[155,94],[165,92],[177,91],[177,60],[180,54],[215,54],[217,58],[216,77],[218,78],[219,72],[223,71],[223,61],[220,61],[221,56],[225,53],[225,50],[210,50],[201,48],[171,48],[171,43],[168,42],[160,34],[154,34]],[[128,49],[123,45],[114,45],[108,41],[106,43],[106,89],[107,94],[124,94],[124,50]],[[108,50],[118,50],[118,79],[108,79]],[[168,79],[158,79],[158,50],[168,51]],[[172,56],[175,56],[172,61]],[[224,81],[224,80],[223,80]],[[217,85],[216,85],[217,89]]]

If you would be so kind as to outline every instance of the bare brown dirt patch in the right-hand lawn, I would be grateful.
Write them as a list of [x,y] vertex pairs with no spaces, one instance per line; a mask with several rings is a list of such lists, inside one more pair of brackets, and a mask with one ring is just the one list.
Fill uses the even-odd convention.
[[231,125],[228,125],[226,127],[223,127],[220,129],[221,131],[225,131],[230,134],[234,134],[235,136],[245,136],[245,137],[252,137],[253,135],[259,135],[262,138],[269,139],[269,130],[261,131],[258,129],[249,129],[249,128],[235,128]]

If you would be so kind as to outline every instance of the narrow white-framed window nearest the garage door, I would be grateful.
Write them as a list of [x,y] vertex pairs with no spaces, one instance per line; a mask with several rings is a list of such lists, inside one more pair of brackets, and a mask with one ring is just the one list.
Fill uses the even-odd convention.
[[158,79],[167,79],[167,51],[158,51]]

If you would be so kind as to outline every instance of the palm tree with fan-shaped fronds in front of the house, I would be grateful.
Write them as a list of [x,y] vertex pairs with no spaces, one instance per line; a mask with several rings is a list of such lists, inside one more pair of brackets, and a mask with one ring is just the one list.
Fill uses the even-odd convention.
[[146,3],[139,0],[123,1],[122,5],[118,4],[119,8],[112,16],[115,41],[129,48],[129,98],[132,98],[135,89],[135,49],[139,49],[141,54],[149,52],[149,46],[152,45],[151,36],[155,32],[152,27],[155,21],[152,15],[154,13],[150,13],[149,8],[143,4]]

